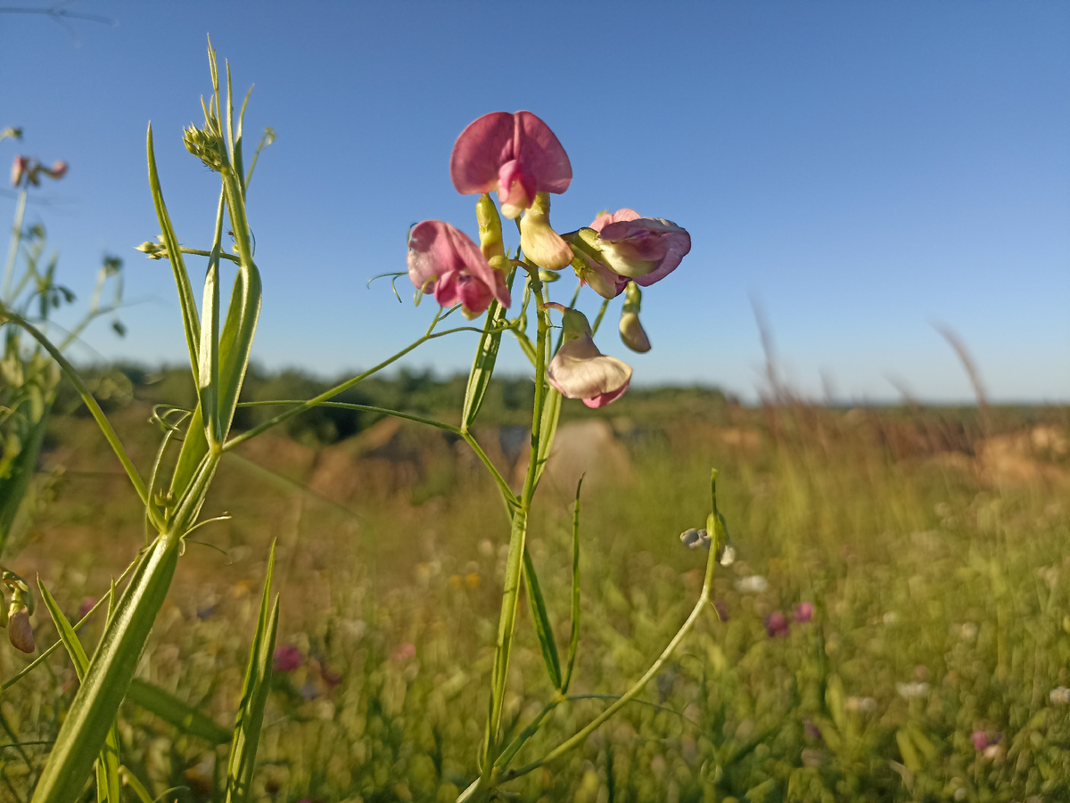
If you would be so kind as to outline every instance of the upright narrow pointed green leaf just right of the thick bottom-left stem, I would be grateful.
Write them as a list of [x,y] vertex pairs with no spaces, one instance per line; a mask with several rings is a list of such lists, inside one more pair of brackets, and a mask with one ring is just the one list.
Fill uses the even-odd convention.
[[249,794],[253,770],[256,766],[260,727],[263,724],[264,705],[271,692],[272,664],[275,652],[275,634],[278,630],[278,598],[269,612],[271,582],[275,570],[275,544],[272,543],[260,600],[260,617],[249,650],[249,663],[242,685],[242,705],[234,723],[234,738],[230,744],[230,763],[227,768],[226,803],[244,803]]

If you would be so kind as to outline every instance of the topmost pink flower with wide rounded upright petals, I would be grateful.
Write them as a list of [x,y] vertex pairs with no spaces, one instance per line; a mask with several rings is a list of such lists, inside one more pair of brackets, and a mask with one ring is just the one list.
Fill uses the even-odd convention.
[[461,195],[498,190],[502,213],[514,219],[537,192],[564,192],[572,166],[550,127],[530,111],[494,111],[461,132],[449,157]]

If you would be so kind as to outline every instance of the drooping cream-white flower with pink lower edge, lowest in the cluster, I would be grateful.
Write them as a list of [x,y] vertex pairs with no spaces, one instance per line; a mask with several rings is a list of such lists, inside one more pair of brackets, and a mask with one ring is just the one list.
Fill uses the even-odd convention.
[[564,313],[564,342],[546,369],[546,379],[566,399],[582,399],[588,407],[605,407],[624,396],[631,367],[598,351],[582,312],[547,304]]

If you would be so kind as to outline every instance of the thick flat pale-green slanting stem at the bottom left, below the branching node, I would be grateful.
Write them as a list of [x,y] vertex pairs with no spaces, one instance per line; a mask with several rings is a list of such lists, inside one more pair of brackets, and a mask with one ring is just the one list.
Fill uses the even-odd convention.
[[71,803],[81,792],[164,604],[179,545],[175,537],[158,538],[135,569],[52,745],[33,803]]

